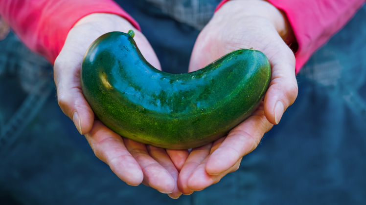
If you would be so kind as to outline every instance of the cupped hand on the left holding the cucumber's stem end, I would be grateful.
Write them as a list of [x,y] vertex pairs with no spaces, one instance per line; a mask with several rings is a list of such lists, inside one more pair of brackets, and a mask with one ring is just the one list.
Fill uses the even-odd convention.
[[80,134],[86,136],[100,160],[130,185],[143,183],[172,198],[182,193],[177,186],[178,173],[188,156],[187,150],[165,150],[120,137],[94,114],[83,96],[80,70],[84,54],[99,36],[111,32],[135,31],[134,40],[142,55],[160,69],[159,60],[150,43],[125,19],[112,14],[92,14],[78,21],[69,31],[65,45],[54,64],[54,79],[58,103],[62,111],[75,123]]

